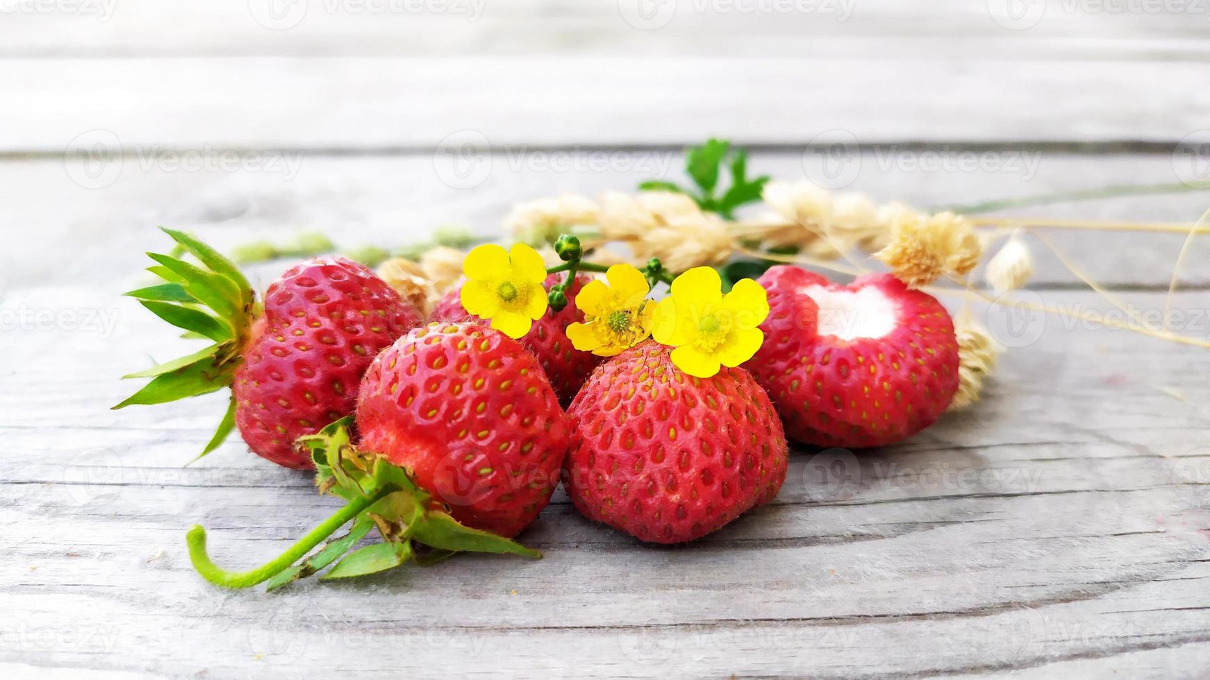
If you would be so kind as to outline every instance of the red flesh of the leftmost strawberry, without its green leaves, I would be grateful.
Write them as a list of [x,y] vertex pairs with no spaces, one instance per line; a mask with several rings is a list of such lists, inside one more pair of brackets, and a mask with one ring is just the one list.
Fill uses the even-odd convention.
[[282,274],[265,293],[231,385],[248,447],[310,469],[295,440],[353,412],[365,368],[420,325],[420,314],[365,267],[323,256]]

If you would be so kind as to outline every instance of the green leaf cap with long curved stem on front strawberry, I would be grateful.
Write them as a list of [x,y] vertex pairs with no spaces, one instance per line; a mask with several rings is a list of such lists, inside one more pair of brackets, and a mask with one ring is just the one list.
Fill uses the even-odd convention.
[[[311,451],[319,492],[345,499],[345,507],[277,558],[242,573],[215,565],[206,552],[206,529],[194,525],[186,535],[194,569],[217,586],[247,588],[267,581],[266,589],[272,591],[329,565],[321,581],[378,574],[409,560],[428,565],[463,551],[542,557],[540,551],[459,523],[445,508],[434,506],[432,495],[417,487],[405,469],[353,446],[351,426],[352,418],[342,418],[299,440]],[[350,523],[347,533],[328,540]],[[382,540],[350,552],[374,528]]]

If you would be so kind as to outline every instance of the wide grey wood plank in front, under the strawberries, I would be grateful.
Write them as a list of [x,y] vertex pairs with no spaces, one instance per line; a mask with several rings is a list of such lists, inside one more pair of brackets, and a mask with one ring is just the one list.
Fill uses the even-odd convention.
[[[27,289],[4,306],[105,296]],[[217,559],[249,564],[335,504],[235,442],[178,467],[218,403],[102,412],[125,387],[111,373],[184,347],[154,329],[131,313],[104,341],[25,332],[0,359],[0,592],[16,612],[0,663],[18,675],[1099,678],[1210,663],[1204,349],[1041,324],[974,411],[877,453],[799,452],[774,502],[698,544],[639,546],[560,493],[523,536],[540,562],[467,556],[265,595],[201,582],[183,530],[203,521]],[[46,347],[70,362],[48,365]]]

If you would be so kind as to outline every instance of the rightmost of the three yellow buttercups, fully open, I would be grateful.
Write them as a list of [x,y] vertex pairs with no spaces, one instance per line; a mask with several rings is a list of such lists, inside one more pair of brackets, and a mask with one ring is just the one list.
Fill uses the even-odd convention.
[[722,295],[722,280],[710,267],[676,277],[672,295],[656,310],[652,337],[675,347],[673,364],[690,376],[709,378],[721,366],[739,366],[765,342],[757,327],[768,316],[765,289],[751,279]]

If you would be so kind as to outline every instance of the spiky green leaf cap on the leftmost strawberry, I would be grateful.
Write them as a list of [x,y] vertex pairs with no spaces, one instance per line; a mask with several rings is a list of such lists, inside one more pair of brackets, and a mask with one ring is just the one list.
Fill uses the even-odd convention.
[[[175,250],[192,255],[201,266],[173,255],[148,252],[156,262],[148,271],[163,283],[126,295],[138,300],[156,316],[184,330],[185,337],[206,338],[212,344],[145,371],[122,376],[123,379],[151,378],[151,382],[115,409],[167,403],[230,387],[248,343],[253,319],[259,315],[255,291],[234,262],[184,232],[160,228],[177,242]],[[232,399],[214,436],[197,458],[218,448],[234,428]]]

